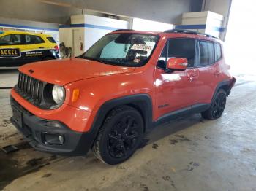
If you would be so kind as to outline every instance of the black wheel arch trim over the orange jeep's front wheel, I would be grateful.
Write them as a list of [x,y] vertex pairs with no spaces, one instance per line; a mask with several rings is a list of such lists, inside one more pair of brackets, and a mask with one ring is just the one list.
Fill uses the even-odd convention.
[[94,117],[91,130],[89,130],[89,132],[92,133],[92,136],[94,136],[94,140],[97,137],[97,133],[99,132],[105,117],[108,115],[111,109],[121,105],[129,105],[135,107],[135,109],[138,109],[145,124],[144,132],[148,132],[153,127],[153,106],[151,96],[148,94],[127,95],[121,98],[106,101],[104,104],[102,104],[102,106],[100,106],[96,116]]

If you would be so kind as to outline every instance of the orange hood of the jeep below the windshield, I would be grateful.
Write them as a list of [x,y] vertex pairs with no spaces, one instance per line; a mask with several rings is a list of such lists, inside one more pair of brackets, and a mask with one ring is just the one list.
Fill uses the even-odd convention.
[[113,66],[82,58],[69,58],[29,63],[21,66],[19,70],[44,82],[66,85],[81,79],[129,73],[134,69],[134,67]]

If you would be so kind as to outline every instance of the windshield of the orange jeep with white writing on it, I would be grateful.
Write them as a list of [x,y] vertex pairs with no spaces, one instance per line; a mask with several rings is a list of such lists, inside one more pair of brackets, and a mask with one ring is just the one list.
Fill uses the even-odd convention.
[[143,66],[156,47],[159,36],[108,34],[99,39],[82,58],[117,66]]

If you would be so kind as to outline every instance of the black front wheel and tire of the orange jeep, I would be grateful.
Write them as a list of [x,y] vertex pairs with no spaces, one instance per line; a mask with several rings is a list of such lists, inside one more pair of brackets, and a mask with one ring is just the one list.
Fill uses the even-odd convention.
[[122,163],[139,147],[143,131],[140,112],[131,106],[118,106],[105,118],[92,152],[103,163]]

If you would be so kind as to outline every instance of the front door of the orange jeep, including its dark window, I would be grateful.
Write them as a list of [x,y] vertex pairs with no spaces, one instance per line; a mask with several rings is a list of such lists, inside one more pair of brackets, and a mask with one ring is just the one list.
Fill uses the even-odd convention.
[[[170,58],[187,58],[189,68],[185,71],[166,72]],[[157,118],[177,110],[189,109],[197,97],[198,69],[195,39],[169,39],[159,58],[155,73]]]

